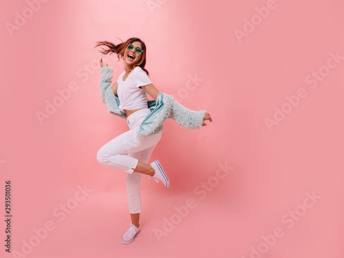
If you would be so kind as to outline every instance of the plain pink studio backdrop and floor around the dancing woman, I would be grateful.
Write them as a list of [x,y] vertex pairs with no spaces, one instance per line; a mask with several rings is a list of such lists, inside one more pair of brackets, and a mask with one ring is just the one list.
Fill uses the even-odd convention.
[[[31,2],[1,8],[1,257],[30,239],[24,257],[343,257],[344,60],[324,67],[330,53],[344,56],[343,1],[47,1],[10,32],[6,23],[30,16]],[[274,9],[258,24],[267,5]],[[238,40],[251,19],[255,30]],[[133,36],[147,44],[155,87],[213,122],[200,130],[164,123],[150,162],[162,163],[171,187],[143,176],[141,232],[124,245],[125,172],[96,154],[129,128],[100,101],[98,59],[106,56],[94,45]],[[116,80],[123,63],[107,57]],[[305,79],[319,69],[326,76],[312,89]],[[187,90],[190,76],[203,80]],[[76,90],[41,124],[36,112],[72,82]],[[301,88],[307,97],[288,109],[286,96]],[[282,106],[288,114],[269,130],[266,119]],[[233,169],[216,185],[224,164]],[[11,254],[3,246],[6,180]],[[194,190],[208,181],[202,199]],[[91,190],[76,201],[84,185]],[[190,198],[196,207],[181,217],[175,207]],[[61,220],[54,211],[65,204],[72,208]],[[156,237],[171,218],[173,230]],[[54,229],[36,237],[34,228],[49,222]]]

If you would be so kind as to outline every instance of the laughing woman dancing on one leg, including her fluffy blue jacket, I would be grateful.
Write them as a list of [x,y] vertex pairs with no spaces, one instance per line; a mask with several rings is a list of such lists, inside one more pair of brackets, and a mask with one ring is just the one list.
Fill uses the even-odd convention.
[[[140,38],[129,38],[124,43],[115,45],[109,41],[100,41],[96,47],[104,45],[108,49],[100,51],[102,54],[117,54],[118,60],[125,62],[125,71],[120,74],[118,80],[111,85],[112,69],[103,64],[100,58],[100,97],[107,103],[109,112],[127,118],[129,130],[106,143],[97,154],[99,163],[127,172],[126,186],[127,199],[131,223],[128,231],[122,237],[123,244],[133,241],[140,232],[141,197],[140,183],[142,175],[146,174],[165,187],[169,187],[169,178],[158,160],[148,164],[149,158],[162,137],[162,126],[153,128],[149,134],[139,137],[138,132],[142,121],[146,121],[153,112],[147,102],[147,93],[159,103],[170,104],[171,108],[161,109],[164,119],[172,117],[175,121],[186,128],[200,128],[206,126],[204,120],[212,121],[211,116],[204,110],[196,113],[193,110],[184,108],[166,93],[162,94],[149,79],[149,72],[144,68],[146,65],[146,45]],[[111,87],[110,87],[111,86]],[[165,96],[165,97],[164,97]],[[164,100],[161,100],[164,97]],[[169,98],[170,97],[170,98]],[[115,101],[115,99],[117,99]],[[164,102],[164,103],[163,103]],[[118,105],[119,103],[119,105]],[[172,103],[172,104],[171,104]],[[158,109],[158,108],[157,108]],[[157,111],[155,111],[157,112]],[[164,121],[164,119],[161,120]],[[156,117],[155,117],[156,121]]]

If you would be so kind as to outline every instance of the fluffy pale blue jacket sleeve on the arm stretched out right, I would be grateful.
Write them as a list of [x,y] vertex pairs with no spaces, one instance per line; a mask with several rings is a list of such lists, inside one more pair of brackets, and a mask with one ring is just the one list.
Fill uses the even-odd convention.
[[172,108],[169,117],[173,118],[180,126],[184,128],[198,129],[202,127],[206,110],[191,110],[177,102],[171,95],[170,97],[172,99]]

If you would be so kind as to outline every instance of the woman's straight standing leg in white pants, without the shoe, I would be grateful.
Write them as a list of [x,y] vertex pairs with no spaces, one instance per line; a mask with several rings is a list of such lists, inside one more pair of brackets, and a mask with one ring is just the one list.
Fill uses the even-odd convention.
[[[158,144],[158,143],[157,143]],[[138,159],[142,163],[148,163],[151,154],[157,145],[153,145],[146,150],[140,152],[134,152],[129,154],[129,156]],[[127,185],[127,198],[129,203],[129,212],[131,215],[131,223],[136,227],[140,226],[140,212],[141,212],[141,196],[140,196],[140,183],[142,179],[142,174],[133,172],[132,174],[127,174],[126,185]]]

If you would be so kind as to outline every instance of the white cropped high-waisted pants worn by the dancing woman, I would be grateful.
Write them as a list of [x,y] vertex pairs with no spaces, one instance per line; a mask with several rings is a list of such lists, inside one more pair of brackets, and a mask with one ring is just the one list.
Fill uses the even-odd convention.
[[[106,143],[97,154],[100,164],[127,172],[127,198],[130,213],[141,212],[140,183],[142,173],[133,172],[138,161],[148,163],[151,153],[162,137],[162,131],[139,138],[136,132],[143,119],[151,113],[149,108],[142,108],[127,117],[129,131]],[[128,154],[128,155],[127,155]]]

